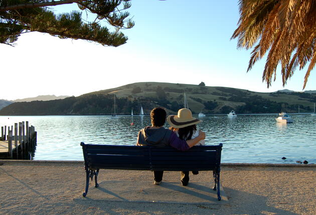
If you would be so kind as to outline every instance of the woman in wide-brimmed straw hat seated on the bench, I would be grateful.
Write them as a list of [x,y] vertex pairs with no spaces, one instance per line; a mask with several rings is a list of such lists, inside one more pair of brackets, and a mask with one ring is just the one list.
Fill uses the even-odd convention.
[[[196,124],[202,120],[192,117],[190,109],[182,108],[178,110],[178,115],[169,115],[167,118],[172,129],[180,139],[189,140],[199,136]],[[200,140],[196,145],[205,145],[205,141]],[[193,174],[198,174],[198,171],[192,171]],[[181,171],[181,183],[186,186],[189,183],[189,171]]]

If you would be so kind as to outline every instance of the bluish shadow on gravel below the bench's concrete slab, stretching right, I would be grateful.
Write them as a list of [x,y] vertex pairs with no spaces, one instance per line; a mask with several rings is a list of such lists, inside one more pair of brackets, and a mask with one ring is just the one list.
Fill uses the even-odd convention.
[[[131,201],[112,201],[106,199],[91,199],[78,197],[74,198],[73,202],[76,205],[83,207],[93,207],[96,211],[107,214],[118,215],[122,214],[123,210],[133,213],[141,212],[144,214],[179,214],[179,209],[188,209],[194,214],[273,214],[273,215],[298,215],[301,213],[291,212],[267,205],[268,198],[261,195],[256,195],[240,190],[225,188],[230,194],[230,201],[233,203],[227,204],[177,204],[177,203],[160,203],[160,202],[131,202]],[[79,193],[78,193],[79,195]],[[152,206],[150,206],[152,205]],[[154,206],[156,205],[156,206]],[[156,211],[153,208],[157,208]],[[118,211],[119,209],[119,211]],[[131,213],[128,213],[131,214]],[[186,213],[187,214],[187,213]]]

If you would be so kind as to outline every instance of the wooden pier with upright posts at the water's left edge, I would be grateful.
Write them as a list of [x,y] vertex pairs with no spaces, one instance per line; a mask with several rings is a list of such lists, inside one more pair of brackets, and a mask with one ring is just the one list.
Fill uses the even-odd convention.
[[[8,129],[8,133],[7,133]],[[33,125],[24,121],[1,127],[0,158],[31,159],[34,156],[37,132]]]

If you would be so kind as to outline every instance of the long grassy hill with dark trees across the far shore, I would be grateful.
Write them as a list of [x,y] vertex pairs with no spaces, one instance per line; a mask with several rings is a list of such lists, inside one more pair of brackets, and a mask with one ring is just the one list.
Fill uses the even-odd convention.
[[77,97],[50,101],[15,102],[0,110],[1,115],[47,114],[111,114],[116,96],[118,114],[130,114],[140,110],[145,114],[156,106],[163,106],[168,113],[176,113],[184,107],[186,92],[189,108],[193,113],[203,109],[205,113],[310,112],[315,93],[304,92],[254,92],[220,86],[199,86],[182,83],[138,82],[116,88],[86,93]]

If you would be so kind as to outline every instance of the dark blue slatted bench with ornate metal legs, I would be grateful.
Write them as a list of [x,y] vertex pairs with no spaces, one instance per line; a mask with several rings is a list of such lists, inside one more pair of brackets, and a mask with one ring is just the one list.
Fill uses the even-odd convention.
[[173,147],[152,147],[134,145],[101,145],[81,142],[86,170],[85,197],[89,178],[95,178],[99,169],[165,170],[165,171],[207,171],[213,170],[218,200],[220,195],[220,165],[223,144],[194,146],[187,151]]

